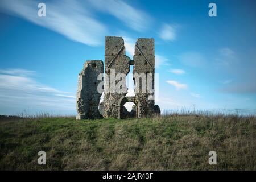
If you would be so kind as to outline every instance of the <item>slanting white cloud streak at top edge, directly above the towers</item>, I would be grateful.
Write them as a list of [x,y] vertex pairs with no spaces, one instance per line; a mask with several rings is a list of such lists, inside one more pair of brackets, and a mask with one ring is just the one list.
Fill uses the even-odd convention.
[[123,1],[90,0],[98,10],[109,13],[136,31],[147,30],[151,18],[141,10],[131,7]]

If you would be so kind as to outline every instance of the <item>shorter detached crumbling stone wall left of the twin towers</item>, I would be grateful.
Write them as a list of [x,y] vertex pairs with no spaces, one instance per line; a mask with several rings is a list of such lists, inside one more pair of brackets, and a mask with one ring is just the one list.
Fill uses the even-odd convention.
[[103,62],[101,60],[90,60],[84,63],[84,68],[79,73],[77,88],[77,117],[76,119],[102,118],[98,110],[101,93],[97,86],[101,82],[97,80],[103,73]]

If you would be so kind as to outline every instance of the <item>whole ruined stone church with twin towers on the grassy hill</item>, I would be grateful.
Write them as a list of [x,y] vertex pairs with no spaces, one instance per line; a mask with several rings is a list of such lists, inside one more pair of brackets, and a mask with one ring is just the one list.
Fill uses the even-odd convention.
[[[130,65],[134,65],[133,79],[135,84],[135,96],[127,97],[126,84],[122,85],[125,93],[113,92],[112,84],[118,81],[107,79],[123,73],[130,72]],[[90,60],[84,64],[79,74],[77,90],[77,119],[97,118],[144,118],[160,115],[158,105],[155,105],[154,75],[155,75],[155,45],[154,39],[139,38],[135,44],[133,60],[126,56],[124,41],[121,37],[107,36],[105,38],[105,69],[101,60]],[[114,72],[113,72],[114,71]],[[101,94],[98,92],[98,79],[100,73],[105,72],[104,100],[100,103]],[[142,92],[141,78],[136,77],[144,73],[146,86],[151,84],[151,92]],[[151,76],[151,79],[148,78]],[[138,80],[137,80],[138,78]],[[126,83],[126,81],[125,81]],[[148,87],[147,87],[148,88]],[[131,112],[127,111],[124,104],[133,102],[135,105]]]

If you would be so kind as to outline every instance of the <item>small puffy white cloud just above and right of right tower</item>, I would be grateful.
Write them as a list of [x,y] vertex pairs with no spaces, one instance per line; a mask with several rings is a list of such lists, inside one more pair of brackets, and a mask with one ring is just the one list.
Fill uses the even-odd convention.
[[176,26],[172,24],[163,24],[159,36],[166,41],[174,41],[176,39]]

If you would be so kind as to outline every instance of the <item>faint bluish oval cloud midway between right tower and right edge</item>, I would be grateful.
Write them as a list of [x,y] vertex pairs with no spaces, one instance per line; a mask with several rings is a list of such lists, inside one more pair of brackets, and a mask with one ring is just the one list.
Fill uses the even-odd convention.
[[184,65],[190,67],[202,67],[206,63],[205,57],[199,52],[185,52],[179,58]]

